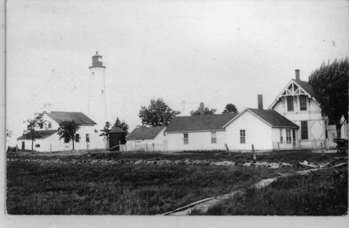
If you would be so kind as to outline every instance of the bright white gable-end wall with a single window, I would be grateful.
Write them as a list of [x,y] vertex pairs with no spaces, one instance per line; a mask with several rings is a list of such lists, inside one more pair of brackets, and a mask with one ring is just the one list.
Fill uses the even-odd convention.
[[[240,130],[245,130],[245,143],[240,143]],[[242,113],[235,121],[225,127],[228,147],[231,151],[251,151],[251,144],[255,150],[271,151],[272,127],[258,119],[250,112]]]

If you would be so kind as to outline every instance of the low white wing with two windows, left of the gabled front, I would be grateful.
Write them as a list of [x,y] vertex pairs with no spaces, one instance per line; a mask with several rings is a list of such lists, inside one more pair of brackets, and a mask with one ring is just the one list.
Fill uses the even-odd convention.
[[166,127],[168,151],[225,150],[225,126],[237,114],[175,116]]

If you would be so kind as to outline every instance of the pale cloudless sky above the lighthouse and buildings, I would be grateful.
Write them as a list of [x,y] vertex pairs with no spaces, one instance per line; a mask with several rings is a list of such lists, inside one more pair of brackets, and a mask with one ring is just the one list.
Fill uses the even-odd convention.
[[[348,56],[348,1],[11,0],[6,8],[10,144],[34,112],[87,114],[89,66],[106,66],[107,119],[133,130],[150,99],[189,115],[264,107],[295,77]],[[50,107],[44,104],[50,103]],[[185,104],[185,105],[184,105]]]

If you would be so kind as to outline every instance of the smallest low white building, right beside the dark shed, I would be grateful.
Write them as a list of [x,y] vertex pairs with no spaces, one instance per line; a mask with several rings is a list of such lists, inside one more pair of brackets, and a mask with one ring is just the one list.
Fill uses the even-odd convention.
[[165,127],[135,128],[126,137],[125,151],[165,151]]

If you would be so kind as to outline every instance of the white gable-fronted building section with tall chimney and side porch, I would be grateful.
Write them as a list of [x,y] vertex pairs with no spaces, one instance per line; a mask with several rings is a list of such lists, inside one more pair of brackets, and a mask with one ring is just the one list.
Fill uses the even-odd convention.
[[[259,95],[261,102],[261,96]],[[292,121],[273,110],[246,108],[225,124],[228,148],[232,151],[297,149],[298,129]]]

